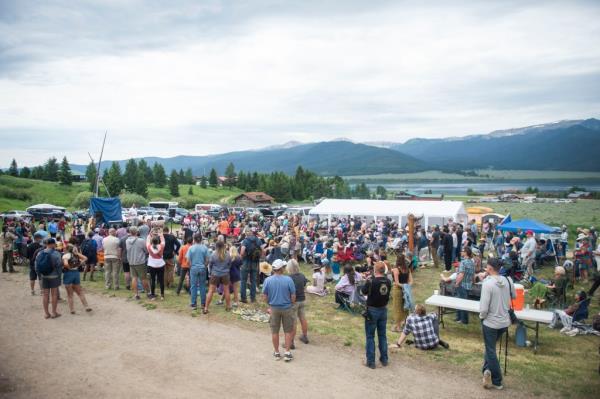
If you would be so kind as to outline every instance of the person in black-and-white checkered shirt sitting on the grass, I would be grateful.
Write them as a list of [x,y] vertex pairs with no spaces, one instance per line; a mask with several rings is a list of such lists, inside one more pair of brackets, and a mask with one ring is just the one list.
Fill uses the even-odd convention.
[[[402,344],[407,341],[406,338],[410,333],[414,335],[415,348],[428,350],[435,349],[438,345],[446,349],[450,348],[447,342],[440,339],[437,315],[435,313],[427,314],[423,304],[417,304],[415,313],[406,319],[404,330],[402,330],[402,334],[400,334],[400,338],[396,343],[398,348],[401,348]],[[407,341],[407,343],[409,342]]]

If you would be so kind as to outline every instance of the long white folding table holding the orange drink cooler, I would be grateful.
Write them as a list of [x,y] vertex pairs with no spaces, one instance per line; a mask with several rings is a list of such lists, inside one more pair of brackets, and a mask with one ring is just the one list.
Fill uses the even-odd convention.
[[[425,304],[431,306],[437,306],[438,314],[440,318],[440,323],[442,327],[444,325],[444,313],[445,309],[455,309],[455,310],[464,310],[471,313],[479,313],[479,301],[473,301],[470,299],[461,299],[455,298],[451,296],[444,295],[432,295],[425,301]],[[537,310],[537,309],[523,309],[516,310],[515,315],[517,318],[523,322],[525,327],[535,330],[535,340],[533,341],[533,351],[537,353],[538,341],[539,341],[539,332],[540,332],[540,323],[542,324],[550,324],[553,318],[553,312],[549,312],[547,310]],[[532,322],[535,323],[535,327],[529,326],[525,323]]]

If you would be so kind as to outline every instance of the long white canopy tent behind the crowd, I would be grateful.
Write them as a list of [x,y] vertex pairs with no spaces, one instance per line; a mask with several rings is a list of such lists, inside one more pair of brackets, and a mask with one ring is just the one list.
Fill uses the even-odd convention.
[[467,222],[467,212],[461,201],[391,201],[391,200],[347,200],[326,199],[309,212],[311,216],[326,217],[331,223],[333,216],[366,217],[377,219],[391,217],[399,225],[408,223],[408,215],[423,217],[422,224],[443,225],[450,219]]

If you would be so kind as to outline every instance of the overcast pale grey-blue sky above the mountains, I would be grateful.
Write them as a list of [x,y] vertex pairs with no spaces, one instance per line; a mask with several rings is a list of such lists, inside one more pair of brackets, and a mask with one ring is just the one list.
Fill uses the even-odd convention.
[[0,166],[600,116],[599,1],[0,0]]

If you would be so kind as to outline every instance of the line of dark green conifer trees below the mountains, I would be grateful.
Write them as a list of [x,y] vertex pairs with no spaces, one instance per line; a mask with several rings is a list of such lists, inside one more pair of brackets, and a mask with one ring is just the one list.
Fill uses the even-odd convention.
[[[1,172],[1,170],[0,170]],[[66,157],[63,157],[60,165],[55,157],[51,157],[41,166],[32,169],[23,167],[19,170],[16,160],[13,159],[7,174],[17,177],[40,179],[47,181],[56,181],[61,184],[70,185],[73,182],[71,168]],[[85,170],[85,176],[90,185],[90,191],[94,191],[97,177],[96,164],[90,162]],[[353,187],[339,176],[323,177],[316,173],[305,170],[298,166],[293,176],[283,172],[259,173],[259,172],[236,172],[233,163],[229,163],[225,168],[222,184],[229,188],[239,188],[243,191],[262,191],[277,202],[291,202],[313,200],[322,197],[328,198],[372,198],[371,191],[365,183],[357,184]],[[130,159],[125,164],[125,170],[121,170],[118,162],[112,162],[104,169],[100,179],[100,192],[108,192],[112,196],[117,196],[122,192],[129,192],[148,197],[148,186],[153,184],[155,187],[168,187],[169,192],[174,197],[179,197],[179,185],[190,185],[187,194],[194,195],[193,186],[199,185],[201,188],[218,188],[220,185],[219,175],[215,168],[212,168],[208,176],[194,177],[191,168],[185,171],[173,169],[167,176],[162,164],[156,162],[152,166],[148,165],[146,160]],[[373,194],[375,195],[375,194]],[[377,188],[378,196],[385,196],[383,187]]]

